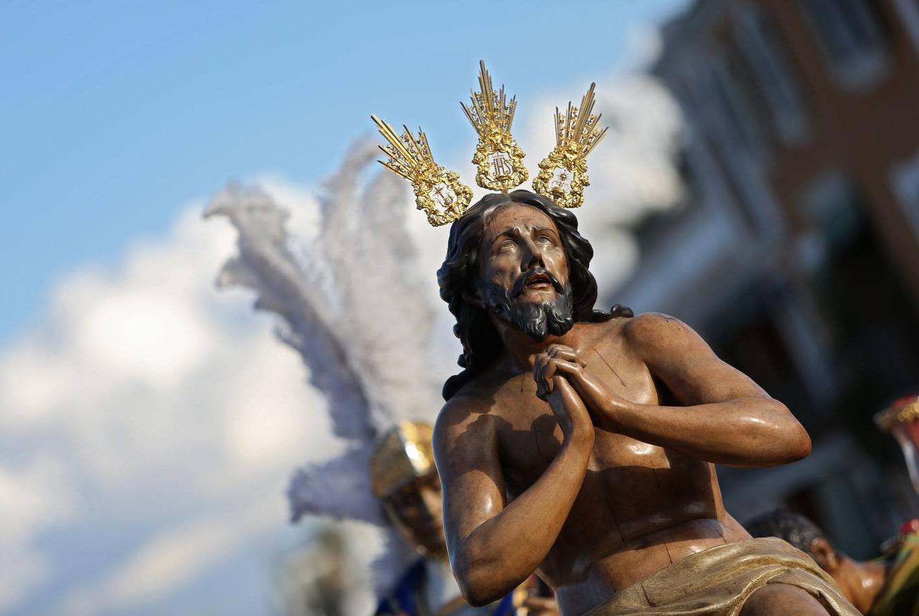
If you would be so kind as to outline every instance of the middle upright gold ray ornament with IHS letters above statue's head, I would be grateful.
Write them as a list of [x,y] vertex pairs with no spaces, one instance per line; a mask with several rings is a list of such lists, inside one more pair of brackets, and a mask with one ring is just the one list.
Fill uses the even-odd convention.
[[472,156],[478,171],[475,183],[489,190],[507,191],[527,181],[528,171],[523,164],[523,150],[511,135],[516,97],[507,100],[505,86],[497,92],[492,87],[492,76],[479,62],[479,91],[471,92],[471,108],[459,103],[472,128],[479,133],[479,144]]

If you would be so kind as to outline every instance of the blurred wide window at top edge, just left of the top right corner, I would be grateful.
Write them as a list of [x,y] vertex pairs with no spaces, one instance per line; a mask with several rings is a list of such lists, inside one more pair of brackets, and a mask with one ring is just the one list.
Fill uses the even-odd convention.
[[873,86],[886,67],[877,7],[871,0],[804,0],[836,81],[850,88]]

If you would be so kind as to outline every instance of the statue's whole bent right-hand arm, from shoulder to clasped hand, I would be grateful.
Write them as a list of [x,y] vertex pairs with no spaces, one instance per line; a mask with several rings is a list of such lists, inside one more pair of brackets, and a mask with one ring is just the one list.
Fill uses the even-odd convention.
[[625,400],[587,371],[572,349],[551,349],[554,363],[542,370],[569,377],[600,428],[732,466],[795,462],[811,451],[811,439],[789,409],[718,359],[687,325],[662,314],[642,314],[622,333],[683,406]]

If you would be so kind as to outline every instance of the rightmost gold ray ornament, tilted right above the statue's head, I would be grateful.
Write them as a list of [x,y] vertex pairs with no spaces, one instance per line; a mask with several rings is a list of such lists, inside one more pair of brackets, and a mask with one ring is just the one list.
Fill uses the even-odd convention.
[[555,108],[555,149],[539,162],[539,174],[533,178],[533,190],[563,208],[584,203],[584,187],[590,186],[587,154],[607,134],[607,129],[600,129],[602,114],[593,115],[595,86],[590,85],[580,107],[569,102],[564,116]]

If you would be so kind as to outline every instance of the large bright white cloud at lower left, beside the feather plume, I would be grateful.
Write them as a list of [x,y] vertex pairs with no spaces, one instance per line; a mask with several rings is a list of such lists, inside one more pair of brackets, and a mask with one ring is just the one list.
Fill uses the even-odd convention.
[[[293,188],[283,199],[310,203]],[[271,319],[253,314],[250,294],[214,289],[235,234],[202,210],[191,204],[114,268],[74,271],[40,325],[0,349],[5,613],[80,556],[42,547],[56,529],[104,536],[115,523],[128,535],[121,555],[69,589],[69,609],[168,594],[283,531],[289,473],[335,450],[323,400]]]

